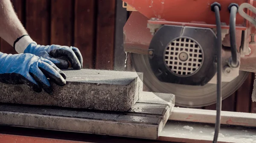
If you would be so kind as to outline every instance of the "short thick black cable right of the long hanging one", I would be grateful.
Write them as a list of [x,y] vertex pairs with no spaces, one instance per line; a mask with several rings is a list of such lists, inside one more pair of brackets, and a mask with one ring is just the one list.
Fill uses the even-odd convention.
[[231,66],[237,67],[238,66],[238,60],[237,60],[237,48],[236,48],[236,13],[238,7],[235,3],[230,4],[229,8],[230,10],[230,47],[231,47],[231,55],[232,55],[232,61]]

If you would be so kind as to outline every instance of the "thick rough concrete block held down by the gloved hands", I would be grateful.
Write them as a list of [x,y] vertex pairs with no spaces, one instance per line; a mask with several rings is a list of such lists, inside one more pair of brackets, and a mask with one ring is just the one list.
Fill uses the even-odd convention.
[[35,93],[26,85],[0,83],[0,103],[49,105],[97,110],[128,111],[139,100],[143,74],[111,70],[63,70],[67,85],[54,95]]

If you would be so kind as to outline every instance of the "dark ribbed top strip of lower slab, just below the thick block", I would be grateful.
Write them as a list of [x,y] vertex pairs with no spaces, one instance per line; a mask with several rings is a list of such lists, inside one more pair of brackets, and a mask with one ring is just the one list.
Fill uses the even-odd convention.
[[[104,120],[104,121],[122,121],[131,123],[147,123],[147,124],[159,124],[160,118],[148,117],[139,115],[124,115],[118,113],[104,113],[104,112],[93,112],[93,111],[79,111],[70,110],[63,108],[49,108],[49,107],[31,107],[31,106],[20,106],[20,105],[0,105],[0,111],[3,112],[18,112],[26,114],[36,115],[48,115],[48,116],[59,116],[68,118],[83,118],[92,120]],[[124,112],[125,113],[125,112]]]

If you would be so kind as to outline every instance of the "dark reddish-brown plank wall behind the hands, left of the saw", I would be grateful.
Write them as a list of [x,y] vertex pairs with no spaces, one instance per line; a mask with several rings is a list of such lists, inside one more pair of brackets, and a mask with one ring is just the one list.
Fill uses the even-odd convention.
[[[41,45],[75,46],[84,68],[113,69],[116,0],[12,0],[29,35]],[[16,53],[1,39],[0,51]]]

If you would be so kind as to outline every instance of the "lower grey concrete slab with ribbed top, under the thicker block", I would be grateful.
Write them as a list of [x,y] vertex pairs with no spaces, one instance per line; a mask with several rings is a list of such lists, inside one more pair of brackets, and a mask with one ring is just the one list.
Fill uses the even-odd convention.
[[[128,112],[0,104],[0,125],[155,140],[171,114],[173,106],[170,104],[175,99],[172,94],[164,96],[171,100],[168,103],[159,102],[157,95],[144,93],[141,97],[143,100],[140,103],[137,101]],[[147,101],[148,98],[151,98],[150,102]]]

